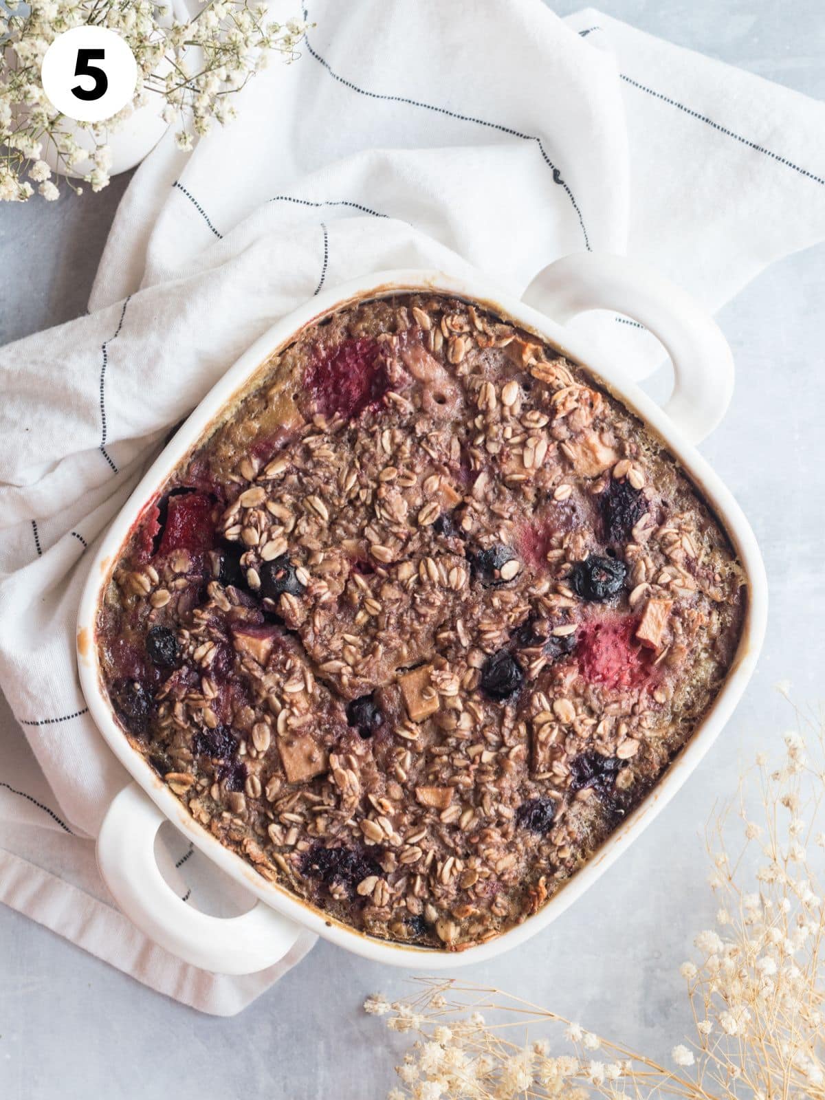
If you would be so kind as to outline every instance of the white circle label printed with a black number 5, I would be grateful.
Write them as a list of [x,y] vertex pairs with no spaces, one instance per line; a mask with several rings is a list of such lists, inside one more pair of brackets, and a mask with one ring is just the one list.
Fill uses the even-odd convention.
[[134,96],[138,63],[127,43],[105,26],[75,26],[43,57],[43,90],[69,119],[102,122]]

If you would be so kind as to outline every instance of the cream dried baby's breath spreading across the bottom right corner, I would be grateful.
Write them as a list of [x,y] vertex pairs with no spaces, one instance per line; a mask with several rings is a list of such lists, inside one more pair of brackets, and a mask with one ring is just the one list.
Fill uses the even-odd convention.
[[[696,1035],[692,1045],[673,1046],[674,1069],[514,994],[426,978],[392,1005],[388,1026],[415,1032],[416,1043],[391,1100],[825,1100],[825,903],[807,856],[825,846],[825,833],[816,832],[825,734],[798,718],[781,766],[771,770],[760,755],[754,769],[762,827],[746,820],[741,796],[736,850],[732,806],[708,825],[722,933],[700,932],[700,958],[680,967]],[[751,847],[761,860],[756,871]],[[749,875],[758,890],[743,888]],[[553,1055],[546,1036],[514,1042],[514,1024],[549,1028],[558,1043],[573,1044],[575,1056]],[[587,1056],[595,1049],[605,1060]]]

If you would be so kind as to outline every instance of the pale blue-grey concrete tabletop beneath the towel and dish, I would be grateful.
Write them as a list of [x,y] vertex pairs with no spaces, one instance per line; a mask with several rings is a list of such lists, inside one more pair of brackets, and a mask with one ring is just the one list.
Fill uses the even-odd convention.
[[[579,4],[556,0],[565,14]],[[683,45],[825,98],[821,0],[608,0],[604,9]],[[46,207],[0,207],[0,341],[76,316],[124,182]],[[544,934],[468,978],[498,983],[659,1056],[690,1014],[676,974],[716,910],[701,833],[739,762],[792,715],[773,691],[822,697],[825,438],[821,369],[825,250],[765,273],[719,318],[736,395],[703,450],[739,498],[767,560],[771,612],[736,718],[689,785],[628,855]],[[183,1009],[0,908],[0,1096],[8,1100],[378,1100],[392,1087],[387,1033],[360,1013],[404,975],[320,944],[240,1016]],[[397,1059],[396,1059],[397,1060]]]

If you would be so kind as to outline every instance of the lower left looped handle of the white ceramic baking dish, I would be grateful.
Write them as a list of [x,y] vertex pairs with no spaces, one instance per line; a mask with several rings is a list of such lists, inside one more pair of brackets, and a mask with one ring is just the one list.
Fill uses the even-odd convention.
[[155,860],[155,836],[165,821],[136,783],[124,787],[107,811],[98,867],[122,912],[161,947],[215,974],[253,974],[282,959],[302,928],[262,901],[224,919],[178,898]]

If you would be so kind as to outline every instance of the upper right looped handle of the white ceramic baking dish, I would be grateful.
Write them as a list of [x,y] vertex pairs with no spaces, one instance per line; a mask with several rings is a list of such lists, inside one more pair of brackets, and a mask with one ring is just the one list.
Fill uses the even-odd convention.
[[522,300],[564,323],[591,309],[625,314],[649,329],[673,363],[664,411],[691,443],[722,420],[734,393],[734,361],[719,327],[686,292],[626,256],[574,253],[540,272]]

